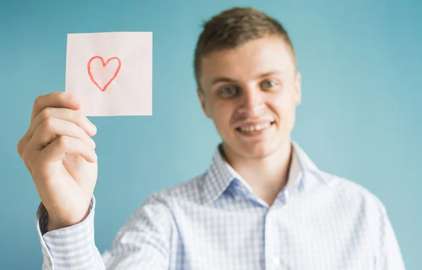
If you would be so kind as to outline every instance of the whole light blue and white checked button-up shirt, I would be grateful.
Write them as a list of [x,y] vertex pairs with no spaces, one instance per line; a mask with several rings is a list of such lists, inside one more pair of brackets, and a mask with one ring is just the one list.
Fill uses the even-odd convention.
[[45,233],[40,205],[43,269],[405,269],[383,203],[318,169],[295,142],[288,184],[271,206],[217,148],[204,174],[149,196],[103,255],[94,212],[95,197],[87,219]]

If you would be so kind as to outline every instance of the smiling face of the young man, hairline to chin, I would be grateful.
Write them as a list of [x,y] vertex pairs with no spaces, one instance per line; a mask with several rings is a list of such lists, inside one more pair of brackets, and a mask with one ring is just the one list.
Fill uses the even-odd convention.
[[279,38],[249,41],[202,60],[198,95],[224,148],[244,158],[264,158],[290,143],[300,74]]

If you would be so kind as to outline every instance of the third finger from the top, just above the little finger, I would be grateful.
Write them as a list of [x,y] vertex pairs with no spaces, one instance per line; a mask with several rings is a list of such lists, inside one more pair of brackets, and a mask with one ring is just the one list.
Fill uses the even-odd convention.
[[28,143],[28,148],[32,150],[41,150],[54,141],[58,136],[69,136],[79,139],[88,143],[89,146],[91,146],[90,148],[95,148],[94,140],[91,139],[84,129],[77,126],[75,123],[54,117],[50,117],[39,124]]

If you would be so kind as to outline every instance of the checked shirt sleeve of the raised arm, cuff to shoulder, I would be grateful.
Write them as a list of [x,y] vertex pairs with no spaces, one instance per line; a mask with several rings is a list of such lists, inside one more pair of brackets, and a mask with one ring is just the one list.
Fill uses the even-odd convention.
[[41,241],[43,270],[57,269],[169,269],[172,215],[164,200],[151,195],[132,214],[101,255],[94,240],[93,196],[84,221],[46,232],[48,213],[44,205],[37,212],[37,231]]

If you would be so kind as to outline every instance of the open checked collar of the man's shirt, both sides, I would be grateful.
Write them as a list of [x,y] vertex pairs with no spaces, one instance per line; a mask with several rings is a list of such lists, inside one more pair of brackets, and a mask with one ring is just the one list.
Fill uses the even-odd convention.
[[[292,141],[292,160],[289,167],[289,176],[286,188],[303,185],[302,174],[305,172],[319,172],[314,162],[307,156],[298,143]],[[222,155],[221,144],[215,150],[210,167],[205,172],[203,183],[203,200],[212,202],[228,188],[234,179],[238,179],[243,186],[252,191],[252,188],[245,180],[229,165]]]

